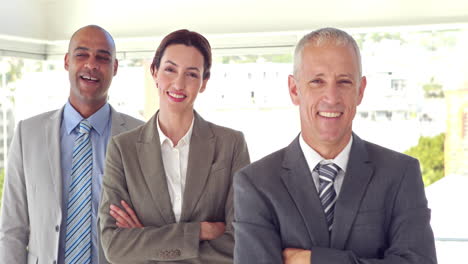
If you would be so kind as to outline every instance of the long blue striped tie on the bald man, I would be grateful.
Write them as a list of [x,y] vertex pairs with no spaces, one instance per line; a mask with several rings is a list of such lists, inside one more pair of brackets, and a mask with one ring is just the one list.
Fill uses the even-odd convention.
[[88,120],[80,123],[73,147],[68,193],[65,264],[91,263],[91,174],[93,150]]

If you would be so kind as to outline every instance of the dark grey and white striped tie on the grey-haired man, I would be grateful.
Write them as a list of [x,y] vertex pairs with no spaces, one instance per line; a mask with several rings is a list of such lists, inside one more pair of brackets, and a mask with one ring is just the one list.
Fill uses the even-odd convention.
[[328,231],[331,232],[336,202],[336,191],[333,183],[340,168],[334,163],[318,164],[317,167],[320,183],[319,198],[327,219]]

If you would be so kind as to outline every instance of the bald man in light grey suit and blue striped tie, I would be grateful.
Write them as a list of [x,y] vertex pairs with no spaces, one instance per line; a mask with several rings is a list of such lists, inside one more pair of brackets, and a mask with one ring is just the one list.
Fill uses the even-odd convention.
[[[2,200],[2,263],[106,263],[100,253],[97,208],[107,143],[112,135],[142,124],[107,103],[117,68],[111,35],[94,25],[79,29],[65,55],[68,102],[59,110],[18,123]],[[86,133],[81,130],[83,124]],[[80,137],[86,138],[83,146],[90,149],[83,156],[76,154]],[[86,164],[84,169],[76,165],[75,157],[86,157],[82,159],[86,163],[81,163]],[[74,218],[80,221],[72,221],[71,216],[79,212],[72,211],[73,201],[80,198],[73,200],[77,196],[72,197],[72,191],[85,179],[77,171],[88,177],[79,189],[85,194],[80,206],[87,210]],[[84,243],[70,243],[75,238]]]

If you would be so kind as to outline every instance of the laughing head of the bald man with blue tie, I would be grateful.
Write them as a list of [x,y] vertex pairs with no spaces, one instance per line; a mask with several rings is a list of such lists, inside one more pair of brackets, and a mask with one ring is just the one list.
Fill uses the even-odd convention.
[[108,33],[95,26],[77,31],[65,55],[73,107],[81,114],[101,108],[117,68],[114,42]]

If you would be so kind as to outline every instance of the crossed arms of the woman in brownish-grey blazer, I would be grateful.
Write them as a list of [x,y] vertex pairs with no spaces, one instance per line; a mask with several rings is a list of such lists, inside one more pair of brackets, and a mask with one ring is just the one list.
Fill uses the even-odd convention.
[[[239,137],[236,144],[230,173],[249,162],[243,137]],[[163,217],[158,215],[160,212],[151,197],[146,198],[150,196],[149,193],[146,196],[140,194],[137,200],[132,200],[135,196],[129,194],[131,186],[127,182],[127,177],[132,176],[125,175],[124,167],[120,146],[113,139],[107,151],[100,208],[101,240],[110,262],[139,263],[153,260],[194,264],[232,263],[232,186],[224,194],[224,222],[194,220],[168,223],[161,220]],[[129,171],[138,169],[131,168]],[[141,189],[138,191],[146,192]]]

